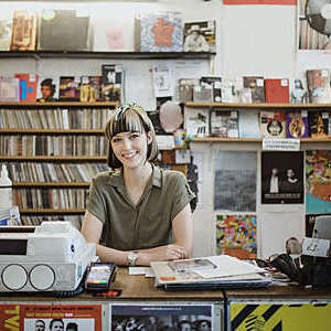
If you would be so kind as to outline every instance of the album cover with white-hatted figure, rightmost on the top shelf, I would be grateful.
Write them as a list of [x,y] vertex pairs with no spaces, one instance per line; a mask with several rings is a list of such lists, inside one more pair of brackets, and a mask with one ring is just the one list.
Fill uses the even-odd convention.
[[184,23],[184,52],[216,53],[216,22]]

